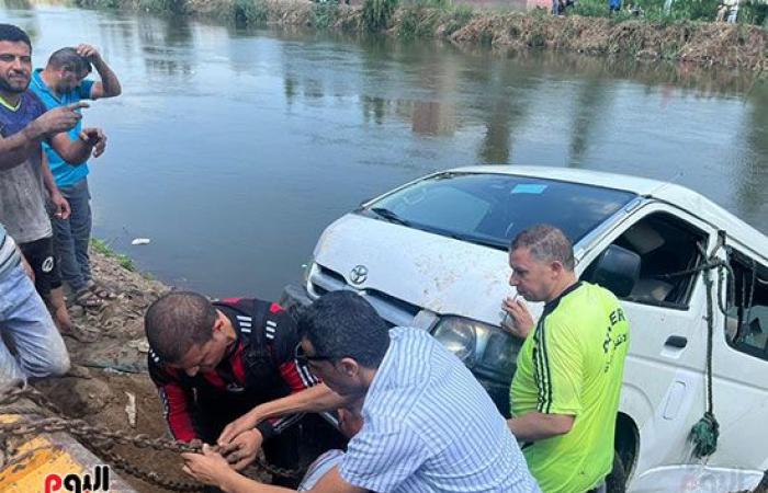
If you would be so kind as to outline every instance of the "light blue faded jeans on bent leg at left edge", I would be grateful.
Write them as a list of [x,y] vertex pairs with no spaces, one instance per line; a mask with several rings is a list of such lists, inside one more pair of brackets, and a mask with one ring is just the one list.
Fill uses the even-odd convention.
[[0,383],[69,370],[67,346],[21,265],[0,278]]

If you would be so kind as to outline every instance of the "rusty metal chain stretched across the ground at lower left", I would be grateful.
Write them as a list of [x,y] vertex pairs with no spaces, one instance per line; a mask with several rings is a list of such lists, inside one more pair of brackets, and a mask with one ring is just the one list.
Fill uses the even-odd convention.
[[[64,414],[61,410],[43,393],[25,385],[21,380],[15,380],[0,389],[0,406],[14,404],[20,399],[27,399],[55,414]],[[112,450],[114,445],[128,445],[137,448],[150,448],[154,450],[168,450],[173,452],[201,452],[202,444],[199,440],[184,443],[162,437],[150,438],[148,435],[144,434],[132,435],[123,431],[110,431],[103,426],[91,425],[83,420],[52,416],[38,420],[23,419],[13,423],[0,423],[0,444],[7,444],[10,437],[24,437],[56,432],[66,432],[79,438],[84,445],[89,445],[91,448],[98,450],[103,458],[112,462],[115,468],[150,484],[179,492],[202,491],[204,488],[199,483],[168,479],[158,472],[143,469]],[[296,478],[301,472],[297,469],[285,469],[272,466],[261,458],[257,458],[253,465],[269,474],[284,478]]]

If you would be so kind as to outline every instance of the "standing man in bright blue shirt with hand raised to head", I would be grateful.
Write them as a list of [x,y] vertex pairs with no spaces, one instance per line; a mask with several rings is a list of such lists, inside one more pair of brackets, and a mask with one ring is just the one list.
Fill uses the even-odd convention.
[[[86,80],[95,67],[101,81]],[[31,89],[48,110],[78,103],[81,100],[98,100],[120,95],[117,77],[103,60],[99,51],[89,45],[61,48],[48,58],[45,69],[32,76]],[[78,138],[81,124],[69,130],[72,140]],[[68,218],[54,218],[54,243],[60,261],[63,279],[75,294],[75,301],[86,308],[98,308],[100,297],[109,291],[91,280],[88,244],[91,238],[91,206],[88,190],[88,163],[71,165],[50,146],[44,144],[50,171],[61,195],[69,202]]]

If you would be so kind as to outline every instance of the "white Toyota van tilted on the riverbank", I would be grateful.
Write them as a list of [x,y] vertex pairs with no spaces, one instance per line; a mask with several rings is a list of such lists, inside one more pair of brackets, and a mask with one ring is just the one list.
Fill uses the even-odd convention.
[[[630,320],[615,422],[628,490],[756,488],[768,470],[768,238],[685,187],[560,168],[430,174],[331,223],[285,301],[360,293],[388,323],[430,331],[508,414],[520,342],[499,328],[501,300],[513,295],[507,248],[539,222],[569,236],[581,279],[613,290]],[[688,436],[708,408],[701,268],[715,261],[721,267],[708,272],[720,438],[697,459]]]

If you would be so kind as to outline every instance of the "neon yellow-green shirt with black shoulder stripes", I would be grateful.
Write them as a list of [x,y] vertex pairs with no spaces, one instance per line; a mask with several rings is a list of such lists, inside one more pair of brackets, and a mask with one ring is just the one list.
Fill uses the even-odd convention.
[[599,485],[613,465],[613,435],[629,347],[629,323],[609,290],[577,283],[546,303],[518,355],[513,416],[575,416],[571,432],[523,446],[544,493]]

